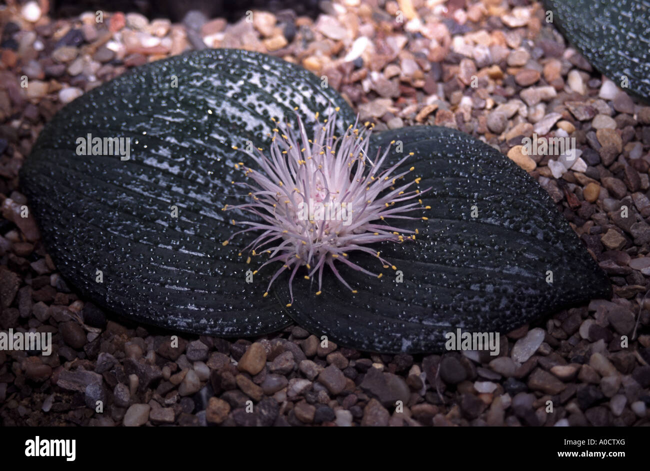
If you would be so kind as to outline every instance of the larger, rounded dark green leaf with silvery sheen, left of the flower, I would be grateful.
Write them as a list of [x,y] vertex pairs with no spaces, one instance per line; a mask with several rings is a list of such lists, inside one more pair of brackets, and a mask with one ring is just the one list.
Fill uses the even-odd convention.
[[[314,121],[335,107],[354,121],[336,92],[277,58],[233,49],[173,57],[64,107],[34,144],[21,184],[58,268],[99,305],[181,331],[268,333],[291,318],[261,298],[261,277],[244,283],[250,266],[236,244],[221,244],[233,231],[222,207],[246,201],[231,195],[233,166],[253,164],[232,146],[268,148],[270,118]],[[88,133],[130,137],[131,158],[77,155]]]

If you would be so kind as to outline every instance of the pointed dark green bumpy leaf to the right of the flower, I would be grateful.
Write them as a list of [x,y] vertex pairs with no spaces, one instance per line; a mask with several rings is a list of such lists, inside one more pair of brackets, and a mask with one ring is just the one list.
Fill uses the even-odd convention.
[[[401,224],[419,227],[415,242],[378,248],[402,272],[402,283],[397,272],[369,279],[344,268],[359,292],[336,290],[328,279],[323,292],[329,296],[294,301],[289,314],[298,324],[363,350],[442,351],[445,333],[457,328],[505,334],[564,307],[612,296],[608,277],[551,198],[499,151],[443,127],[407,127],[373,139],[375,148],[395,140],[414,153],[404,166],[415,166],[422,189],[432,187],[422,196],[432,207],[429,220]],[[359,259],[376,267],[372,257]],[[300,283],[306,291],[309,281]]]

